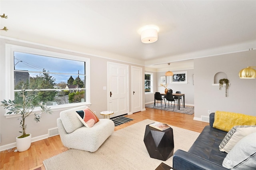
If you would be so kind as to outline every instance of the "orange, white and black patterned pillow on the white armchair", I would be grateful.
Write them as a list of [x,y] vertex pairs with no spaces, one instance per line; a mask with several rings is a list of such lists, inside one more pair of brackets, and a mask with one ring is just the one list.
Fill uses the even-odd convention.
[[79,120],[88,128],[93,127],[93,125],[99,121],[98,117],[94,115],[89,108],[82,111],[76,111],[76,113]]

